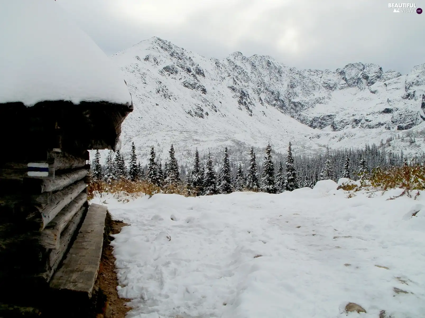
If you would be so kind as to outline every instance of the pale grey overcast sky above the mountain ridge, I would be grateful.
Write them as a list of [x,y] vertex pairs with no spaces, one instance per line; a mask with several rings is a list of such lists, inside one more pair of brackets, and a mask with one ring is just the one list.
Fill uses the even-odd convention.
[[300,69],[361,61],[405,74],[425,63],[425,13],[382,0],[57,1],[108,55],[159,36],[206,57],[240,51]]

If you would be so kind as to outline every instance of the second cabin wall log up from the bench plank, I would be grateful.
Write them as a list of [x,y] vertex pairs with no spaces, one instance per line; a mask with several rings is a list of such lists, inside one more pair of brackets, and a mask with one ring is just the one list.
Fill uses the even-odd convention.
[[45,248],[59,248],[60,234],[85,202],[87,202],[87,193],[83,191],[48,223],[46,228],[41,232],[40,244]]

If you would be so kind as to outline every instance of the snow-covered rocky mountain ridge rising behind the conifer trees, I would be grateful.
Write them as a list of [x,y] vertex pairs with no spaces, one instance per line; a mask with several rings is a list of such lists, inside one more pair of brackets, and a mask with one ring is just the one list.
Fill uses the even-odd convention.
[[[122,129],[124,152],[153,145],[165,156],[224,145],[303,152],[380,143],[399,130],[425,128],[425,64],[402,75],[376,64],[297,70],[269,56],[207,59],[157,37],[114,54],[133,96]],[[422,152],[394,140],[399,148]],[[394,146],[394,145],[393,145]]]

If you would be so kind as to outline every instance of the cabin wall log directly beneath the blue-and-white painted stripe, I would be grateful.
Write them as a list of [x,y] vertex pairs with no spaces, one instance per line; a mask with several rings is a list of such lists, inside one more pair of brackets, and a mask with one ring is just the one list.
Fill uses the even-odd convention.
[[83,179],[87,174],[88,170],[79,169],[57,175],[54,179],[50,180],[24,179],[23,184],[25,190],[30,193],[59,191],[73,184],[75,181]]

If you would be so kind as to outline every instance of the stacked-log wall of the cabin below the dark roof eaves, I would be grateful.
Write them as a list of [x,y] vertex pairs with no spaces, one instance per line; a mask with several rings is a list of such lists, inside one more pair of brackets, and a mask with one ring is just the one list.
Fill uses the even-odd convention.
[[1,166],[0,281],[10,287],[0,289],[3,302],[15,288],[25,305],[40,304],[88,209],[86,159],[52,151],[44,162]]

